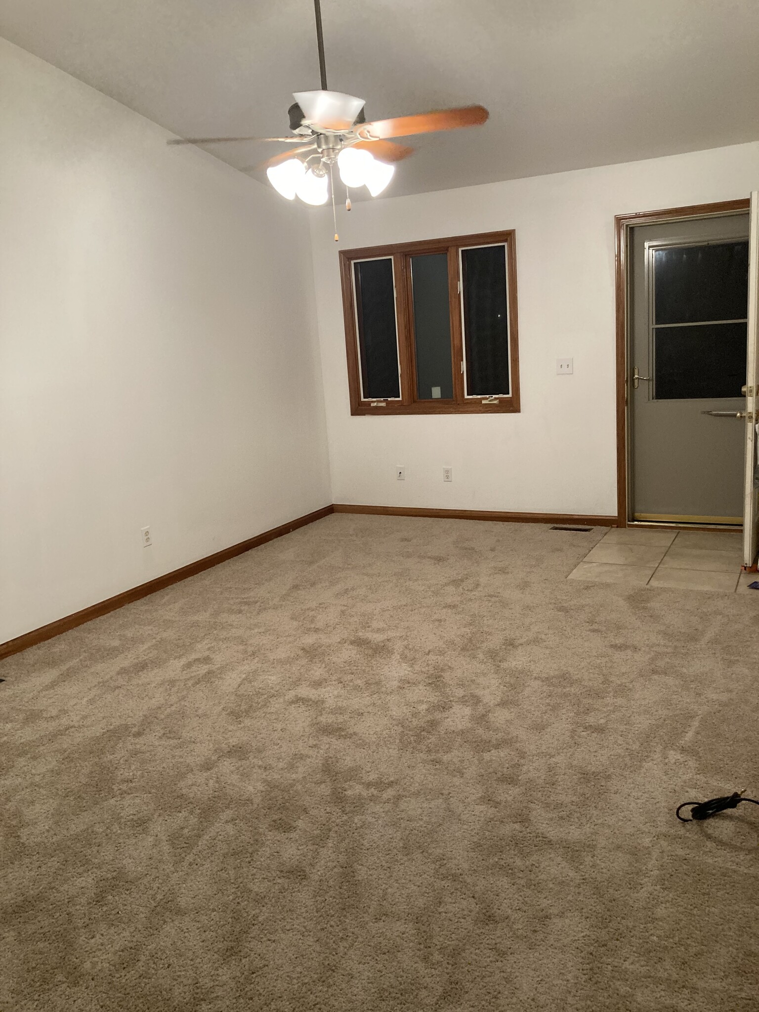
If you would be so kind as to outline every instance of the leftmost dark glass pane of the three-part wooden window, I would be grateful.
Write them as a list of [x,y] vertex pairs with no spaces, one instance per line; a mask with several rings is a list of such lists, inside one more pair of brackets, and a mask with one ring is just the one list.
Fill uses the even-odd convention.
[[385,401],[401,396],[396,338],[396,296],[393,260],[357,260],[356,285],[358,350],[364,399]]

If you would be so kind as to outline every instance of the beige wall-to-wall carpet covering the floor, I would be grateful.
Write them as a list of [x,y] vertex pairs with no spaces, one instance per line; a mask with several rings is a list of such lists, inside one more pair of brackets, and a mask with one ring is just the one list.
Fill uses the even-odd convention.
[[0,1009],[759,1009],[759,593],[335,515],[0,665]]

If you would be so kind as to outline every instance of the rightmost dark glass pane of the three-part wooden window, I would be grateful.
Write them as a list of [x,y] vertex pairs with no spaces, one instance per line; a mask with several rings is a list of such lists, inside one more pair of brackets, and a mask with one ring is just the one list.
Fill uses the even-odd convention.
[[506,247],[462,249],[461,289],[467,394],[507,395],[510,390]]

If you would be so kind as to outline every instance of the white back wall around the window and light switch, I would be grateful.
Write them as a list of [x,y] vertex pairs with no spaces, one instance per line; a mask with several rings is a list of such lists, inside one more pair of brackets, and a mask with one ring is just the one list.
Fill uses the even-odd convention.
[[[450,144],[466,144],[465,132]],[[402,173],[404,165],[398,167]],[[516,229],[521,414],[351,417],[331,212],[312,219],[335,502],[616,513],[614,215],[747,197],[759,144],[354,201],[341,247]],[[574,358],[558,376],[556,359]],[[395,478],[406,467],[405,482]],[[443,484],[442,468],[453,468]]]

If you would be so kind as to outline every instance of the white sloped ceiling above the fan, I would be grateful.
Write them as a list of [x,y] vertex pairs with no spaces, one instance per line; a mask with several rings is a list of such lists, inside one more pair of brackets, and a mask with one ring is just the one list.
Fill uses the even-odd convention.
[[[759,139],[756,0],[322,0],[329,86],[412,141],[388,195]],[[287,133],[319,87],[312,0],[0,0],[0,34],[183,136]],[[281,150],[217,146],[232,165]]]

